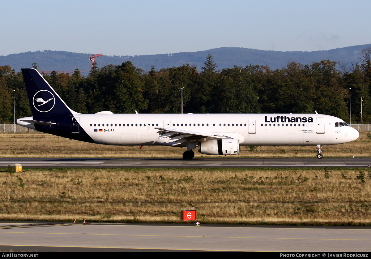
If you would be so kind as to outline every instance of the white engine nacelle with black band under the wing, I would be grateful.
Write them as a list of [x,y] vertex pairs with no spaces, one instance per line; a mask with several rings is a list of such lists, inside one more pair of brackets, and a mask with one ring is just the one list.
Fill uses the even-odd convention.
[[198,153],[206,155],[237,155],[240,152],[240,140],[223,138],[198,143]]

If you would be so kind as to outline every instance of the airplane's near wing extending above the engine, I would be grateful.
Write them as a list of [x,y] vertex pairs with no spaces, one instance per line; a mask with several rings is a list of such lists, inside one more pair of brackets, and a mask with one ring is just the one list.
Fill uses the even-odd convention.
[[194,132],[194,131],[186,131],[183,129],[176,129],[176,128],[155,128],[159,129],[157,133],[159,133],[161,136],[158,138],[170,138],[166,143],[170,143],[174,141],[173,146],[177,146],[179,144],[182,144],[187,141],[191,140],[200,140],[200,141],[206,141],[206,140],[220,140],[222,138],[230,138],[224,135],[214,135],[209,133],[201,133],[201,132]]

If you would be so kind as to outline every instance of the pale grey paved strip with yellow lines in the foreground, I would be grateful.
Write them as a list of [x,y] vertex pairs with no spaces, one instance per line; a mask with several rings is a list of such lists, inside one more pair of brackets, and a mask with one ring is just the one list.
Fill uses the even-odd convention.
[[0,223],[0,249],[13,251],[370,250],[370,227],[194,226],[193,224]]

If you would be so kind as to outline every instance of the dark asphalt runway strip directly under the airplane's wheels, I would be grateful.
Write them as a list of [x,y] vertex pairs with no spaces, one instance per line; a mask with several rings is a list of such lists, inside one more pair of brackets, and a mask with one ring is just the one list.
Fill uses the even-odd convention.
[[371,158],[0,158],[0,168],[243,168],[243,167],[369,167]]

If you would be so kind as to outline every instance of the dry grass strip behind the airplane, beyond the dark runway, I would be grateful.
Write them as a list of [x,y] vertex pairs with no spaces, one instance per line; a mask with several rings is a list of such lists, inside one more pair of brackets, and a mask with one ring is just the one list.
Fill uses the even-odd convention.
[[[181,158],[184,148],[145,146],[109,146],[69,140],[41,132],[0,133],[0,157],[50,157],[50,158]],[[371,157],[371,139],[367,132],[360,132],[358,140],[325,146],[324,157]],[[315,146],[262,146],[251,152],[241,147],[240,153],[230,157],[315,157]],[[195,152],[195,157],[214,157]]]

